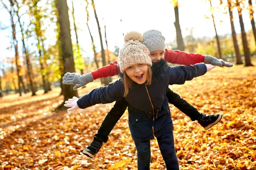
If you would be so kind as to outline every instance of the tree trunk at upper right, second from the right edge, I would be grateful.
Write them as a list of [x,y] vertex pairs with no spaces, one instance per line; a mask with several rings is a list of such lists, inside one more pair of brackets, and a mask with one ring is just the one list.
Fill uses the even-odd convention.
[[246,39],[246,33],[244,31],[244,21],[243,21],[243,17],[242,17],[242,11],[241,11],[241,7],[240,7],[240,4],[239,4],[238,0],[236,0],[236,7],[237,7],[237,10],[238,10],[239,23],[240,23],[240,26],[241,26],[241,34],[242,34],[242,42],[243,42],[243,48],[244,48],[245,66],[252,66],[252,63],[250,61],[250,49],[248,47],[247,39]]

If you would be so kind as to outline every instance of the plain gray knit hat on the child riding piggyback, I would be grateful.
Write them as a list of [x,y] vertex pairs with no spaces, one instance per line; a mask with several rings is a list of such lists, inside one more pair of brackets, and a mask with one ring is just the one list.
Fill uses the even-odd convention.
[[149,49],[149,51],[162,50],[165,51],[165,38],[162,33],[157,30],[149,30],[143,33],[143,44]]

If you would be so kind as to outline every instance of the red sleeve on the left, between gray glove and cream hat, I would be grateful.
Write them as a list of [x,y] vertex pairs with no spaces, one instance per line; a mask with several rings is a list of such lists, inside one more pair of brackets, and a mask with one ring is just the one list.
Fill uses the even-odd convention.
[[92,72],[93,79],[112,77],[119,73],[119,67],[117,61],[111,62],[109,65],[98,68],[96,71]]

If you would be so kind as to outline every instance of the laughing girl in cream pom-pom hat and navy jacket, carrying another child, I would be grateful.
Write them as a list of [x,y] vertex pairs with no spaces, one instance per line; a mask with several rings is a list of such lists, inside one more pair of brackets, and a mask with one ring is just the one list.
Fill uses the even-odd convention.
[[[87,108],[98,103],[121,100],[128,102],[129,128],[137,148],[138,169],[149,170],[150,140],[157,138],[168,170],[179,170],[175,154],[173,124],[166,92],[172,84],[183,84],[193,77],[204,75],[212,66],[198,64],[169,67],[165,61],[152,66],[148,48],[141,42],[140,33],[132,31],[120,49],[119,67],[123,77],[116,82],[94,89],[80,99],[65,101],[68,111]],[[159,69],[160,68],[160,69]]]

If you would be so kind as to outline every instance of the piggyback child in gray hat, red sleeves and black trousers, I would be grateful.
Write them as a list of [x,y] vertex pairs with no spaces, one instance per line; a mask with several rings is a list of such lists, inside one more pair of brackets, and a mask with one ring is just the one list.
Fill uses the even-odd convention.
[[[146,31],[143,34],[143,44],[149,49],[151,60],[154,63],[158,62],[160,59],[166,59],[166,61],[168,62],[180,64],[195,64],[198,62],[206,62],[219,66],[222,64],[224,66],[232,66],[232,64],[230,63],[224,62],[223,60],[218,60],[215,57],[208,55],[203,56],[201,54],[187,54],[180,51],[169,51],[165,48],[165,38],[163,37],[161,32],[157,30]],[[115,63],[116,62],[113,62],[108,66],[99,68],[97,71],[85,74],[83,76],[75,73],[67,73],[63,77],[63,83],[78,83],[78,85],[74,87],[74,89],[76,89],[82,85],[86,85],[87,82],[90,82],[90,80],[87,79],[88,77],[90,77],[90,75],[93,76],[93,79],[96,79],[97,77],[108,77],[116,75],[119,72],[119,67]],[[186,100],[182,99],[178,94],[174,93],[170,89],[168,89],[166,96],[169,99],[169,103],[175,105],[176,108],[180,109],[180,111],[189,116],[192,121],[197,120],[199,124],[203,126],[206,130],[217,124],[222,118],[221,114],[206,115],[203,113],[199,113],[196,108],[194,108],[192,105],[186,102]],[[90,158],[96,156],[96,154],[99,152],[99,149],[102,147],[103,142],[108,141],[109,133],[113,129],[116,122],[121,118],[127,106],[128,103],[125,101],[125,99],[116,102],[114,107],[111,109],[111,111],[107,114],[104,121],[102,122],[98,133],[94,136],[93,142],[91,142],[90,145],[88,145],[82,153],[84,153],[86,156],[89,156]]]

